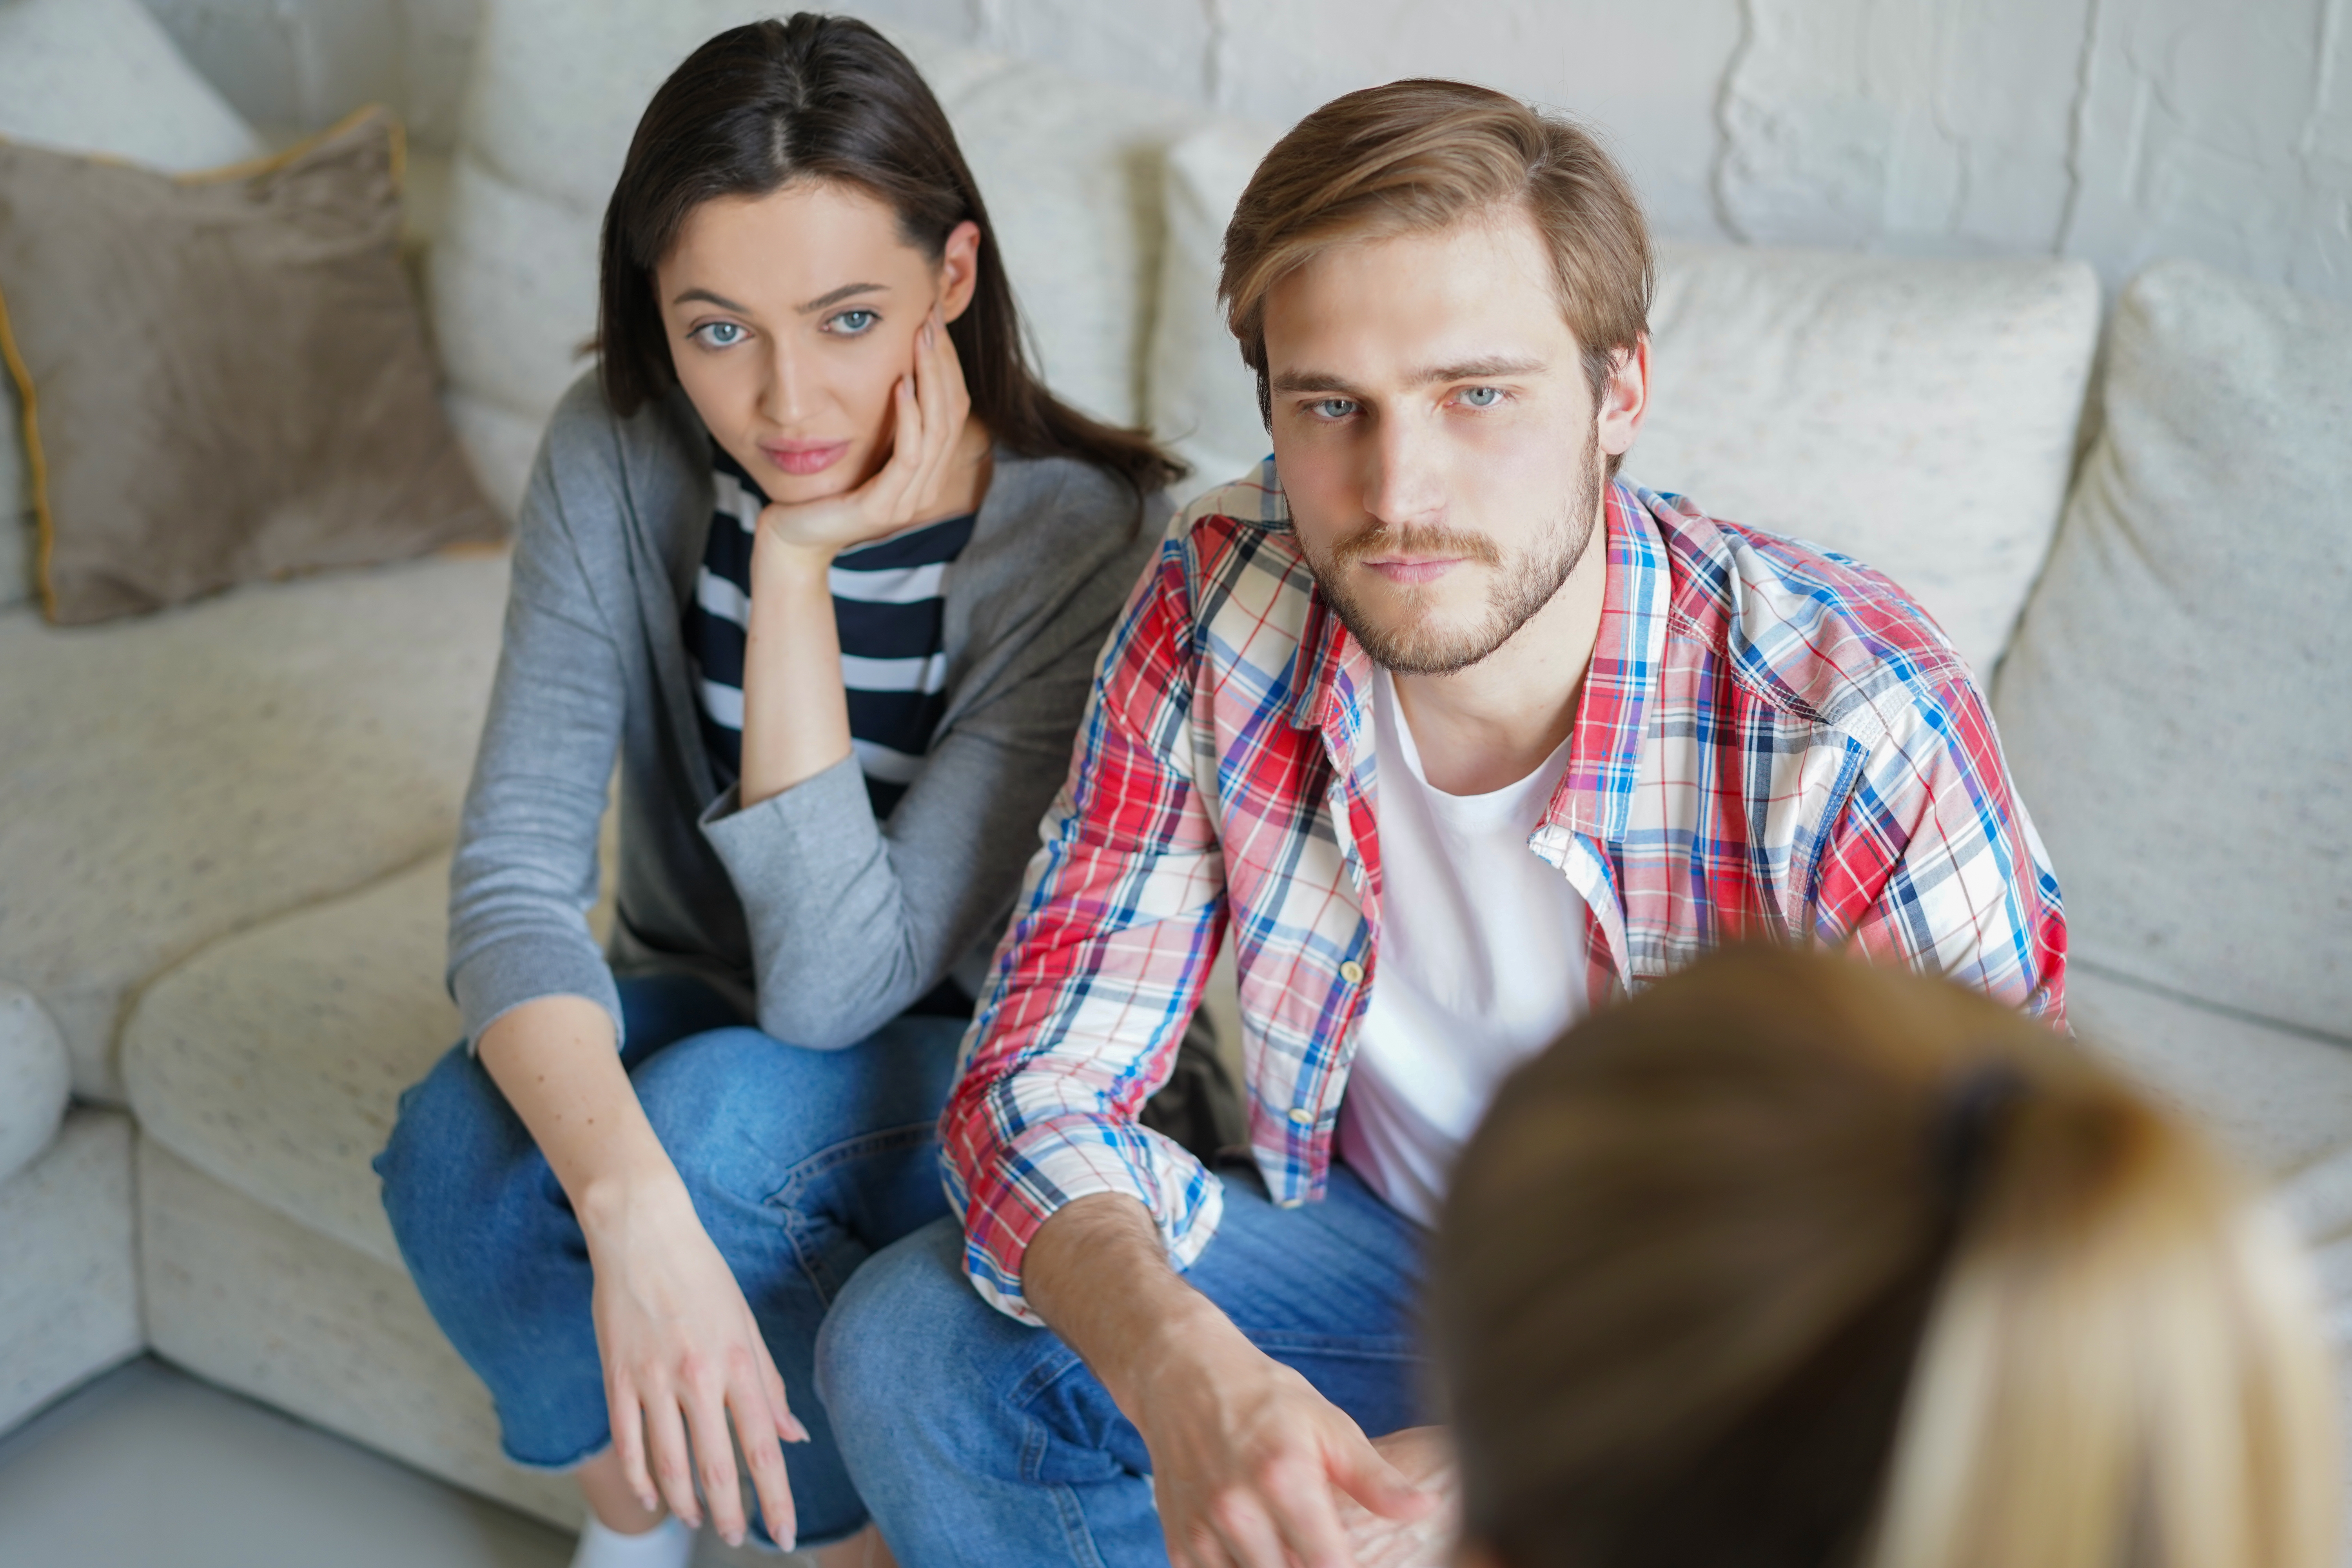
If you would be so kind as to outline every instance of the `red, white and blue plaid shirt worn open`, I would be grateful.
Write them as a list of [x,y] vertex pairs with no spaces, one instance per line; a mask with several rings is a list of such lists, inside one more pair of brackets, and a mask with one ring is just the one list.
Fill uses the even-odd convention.
[[[2065,1023],[2065,914],[1966,663],[1851,559],[1613,484],[1566,776],[1529,849],[1585,905],[1595,1006],[1731,938],[1830,943]],[[1103,649],[941,1121],[981,1295],[1127,1192],[1178,1267],[1218,1180],[1136,1124],[1230,922],[1249,1150],[1322,1197],[1378,983],[1374,665],[1312,588],[1275,465],[1169,529]]]

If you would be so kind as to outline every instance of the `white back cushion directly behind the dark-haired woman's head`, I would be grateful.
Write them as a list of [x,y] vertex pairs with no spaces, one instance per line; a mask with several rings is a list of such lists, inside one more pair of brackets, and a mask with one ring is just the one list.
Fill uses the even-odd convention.
[[[482,16],[433,315],[452,418],[489,489],[522,494],[536,433],[595,331],[597,226],[644,103],[748,0],[492,0]],[[1157,165],[1200,113],[884,28],[955,122],[1051,388],[1141,414],[1160,268]]]

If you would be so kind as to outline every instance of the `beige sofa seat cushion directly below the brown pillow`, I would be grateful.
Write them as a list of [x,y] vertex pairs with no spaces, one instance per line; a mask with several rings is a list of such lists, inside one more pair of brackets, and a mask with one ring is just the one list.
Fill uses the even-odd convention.
[[118,1098],[167,964],[447,844],[489,698],[503,555],[240,588],[106,628],[0,614],[0,976]]

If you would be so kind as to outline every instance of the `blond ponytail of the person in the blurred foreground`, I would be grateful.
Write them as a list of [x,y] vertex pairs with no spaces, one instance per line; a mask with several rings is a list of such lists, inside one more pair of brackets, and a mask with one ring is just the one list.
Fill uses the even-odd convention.
[[1945,1265],[1872,1568],[2321,1568],[2336,1368],[2274,1213],[2042,1063]]

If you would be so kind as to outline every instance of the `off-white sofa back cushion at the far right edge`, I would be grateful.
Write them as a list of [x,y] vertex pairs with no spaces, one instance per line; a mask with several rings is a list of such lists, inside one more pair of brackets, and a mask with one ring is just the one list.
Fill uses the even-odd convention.
[[2352,1044],[2352,310],[2143,273],[2002,670],[2096,971]]

